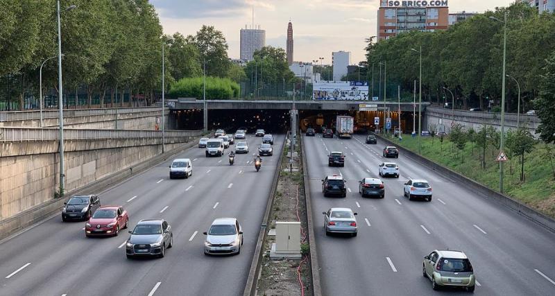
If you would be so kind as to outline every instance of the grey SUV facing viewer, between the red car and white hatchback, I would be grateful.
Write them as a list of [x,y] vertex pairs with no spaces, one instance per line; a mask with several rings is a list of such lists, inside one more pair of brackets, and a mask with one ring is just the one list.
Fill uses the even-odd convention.
[[126,242],[127,258],[135,256],[160,256],[173,247],[171,226],[164,219],[140,220]]

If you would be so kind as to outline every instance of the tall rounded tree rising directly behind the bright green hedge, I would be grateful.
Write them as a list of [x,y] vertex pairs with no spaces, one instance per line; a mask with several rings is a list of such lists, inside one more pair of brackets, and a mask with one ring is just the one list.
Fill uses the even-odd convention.
[[228,42],[221,31],[214,26],[203,25],[196,35],[189,35],[185,40],[194,44],[200,53],[199,62],[206,62],[206,75],[225,77],[230,67]]

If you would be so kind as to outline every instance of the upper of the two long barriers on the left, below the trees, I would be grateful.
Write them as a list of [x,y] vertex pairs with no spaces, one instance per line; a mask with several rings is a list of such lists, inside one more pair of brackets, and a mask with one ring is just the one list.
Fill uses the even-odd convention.
[[[64,117],[113,115],[137,112],[161,112],[160,107],[131,107],[131,108],[99,108],[99,109],[68,109],[64,110]],[[42,118],[57,118],[58,110],[42,110]],[[1,121],[19,121],[40,119],[39,110],[0,112]]]

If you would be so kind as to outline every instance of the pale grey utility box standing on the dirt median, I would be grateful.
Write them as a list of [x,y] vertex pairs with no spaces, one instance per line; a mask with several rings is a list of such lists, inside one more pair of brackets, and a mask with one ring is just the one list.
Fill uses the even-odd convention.
[[300,222],[276,222],[271,259],[300,259]]

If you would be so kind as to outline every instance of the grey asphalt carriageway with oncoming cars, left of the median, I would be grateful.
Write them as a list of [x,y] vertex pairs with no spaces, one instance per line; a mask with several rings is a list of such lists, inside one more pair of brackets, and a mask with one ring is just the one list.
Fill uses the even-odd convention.
[[[242,295],[278,159],[263,157],[257,173],[252,155],[262,138],[247,140],[250,153],[233,166],[229,150],[206,158],[195,146],[99,194],[101,204],[128,211],[130,230],[141,219],[166,219],[174,246],[164,258],[128,260],[126,230],[86,238],[85,222],[62,223],[58,214],[0,244],[0,295]],[[275,136],[275,152],[283,140]],[[193,161],[193,175],[170,180],[171,160],[182,157]],[[241,223],[241,254],[203,254],[203,232],[220,217]]]

